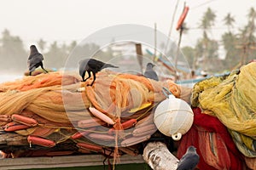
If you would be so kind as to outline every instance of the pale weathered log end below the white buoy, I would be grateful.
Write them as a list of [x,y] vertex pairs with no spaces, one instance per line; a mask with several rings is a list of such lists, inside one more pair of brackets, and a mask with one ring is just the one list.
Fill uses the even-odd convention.
[[150,142],[143,150],[143,159],[154,170],[176,170],[178,159],[167,149],[166,144]]

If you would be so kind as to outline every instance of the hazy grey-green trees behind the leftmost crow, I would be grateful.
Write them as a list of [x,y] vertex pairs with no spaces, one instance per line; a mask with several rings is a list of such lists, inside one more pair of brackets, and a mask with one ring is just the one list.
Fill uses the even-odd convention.
[[[81,56],[86,55],[86,52],[91,51],[91,49],[99,48],[94,43],[78,46],[76,41],[69,44],[59,44],[55,41],[49,44],[49,48],[46,48],[47,42],[44,39],[39,39],[34,44],[38,47],[39,53],[44,55],[45,68],[56,70],[65,66],[65,62],[73,48],[77,48],[76,54]],[[11,35],[7,29],[2,32],[2,37],[0,38],[0,71],[2,73],[27,71],[26,63],[29,53],[29,47],[24,48],[24,43],[20,37]]]

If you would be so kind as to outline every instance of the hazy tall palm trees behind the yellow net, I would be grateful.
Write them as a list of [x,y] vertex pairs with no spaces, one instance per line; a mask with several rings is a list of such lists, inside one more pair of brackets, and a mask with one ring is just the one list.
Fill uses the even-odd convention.
[[[202,34],[196,42],[195,47],[183,47],[182,51],[190,68],[201,68],[205,71],[221,72],[232,71],[241,65],[247,64],[250,60],[256,59],[256,11],[250,8],[246,26],[235,28],[236,19],[228,13],[223,18],[223,24],[227,27],[220,40],[212,38],[214,31],[216,14],[212,8],[207,8],[203,14],[200,24]],[[189,31],[189,27],[185,31]],[[224,48],[224,59],[220,59],[218,50]]]

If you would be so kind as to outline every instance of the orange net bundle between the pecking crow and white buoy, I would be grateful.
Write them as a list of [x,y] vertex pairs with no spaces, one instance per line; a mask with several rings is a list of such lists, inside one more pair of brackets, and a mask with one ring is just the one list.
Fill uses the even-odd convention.
[[125,114],[132,108],[165,99],[162,87],[169,88],[172,94],[180,97],[180,87],[172,81],[150,81],[146,77],[131,74],[99,74],[96,85],[86,87],[85,92],[96,109],[120,117],[121,113]]

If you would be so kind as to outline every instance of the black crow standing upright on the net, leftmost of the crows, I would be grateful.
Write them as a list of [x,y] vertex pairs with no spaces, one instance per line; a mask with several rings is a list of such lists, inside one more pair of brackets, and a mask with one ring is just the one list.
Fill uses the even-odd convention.
[[41,68],[45,72],[48,72],[44,69],[43,60],[44,57],[42,54],[38,52],[37,47],[35,45],[30,46],[30,54],[27,59],[27,65],[29,67],[29,76],[31,76],[32,71],[35,71],[36,68],[38,68],[38,66],[41,66]]

